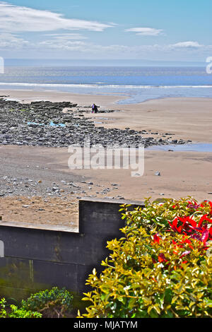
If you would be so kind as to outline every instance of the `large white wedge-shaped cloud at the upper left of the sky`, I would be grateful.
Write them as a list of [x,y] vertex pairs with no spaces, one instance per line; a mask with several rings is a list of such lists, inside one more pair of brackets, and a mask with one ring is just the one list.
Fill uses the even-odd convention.
[[0,2],[0,30],[4,32],[42,32],[53,30],[102,31],[111,24],[64,18],[59,13]]

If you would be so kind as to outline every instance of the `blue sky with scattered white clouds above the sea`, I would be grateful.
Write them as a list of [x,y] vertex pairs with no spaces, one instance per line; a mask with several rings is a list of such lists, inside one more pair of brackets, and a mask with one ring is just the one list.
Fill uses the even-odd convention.
[[0,57],[201,61],[211,0],[0,1]]

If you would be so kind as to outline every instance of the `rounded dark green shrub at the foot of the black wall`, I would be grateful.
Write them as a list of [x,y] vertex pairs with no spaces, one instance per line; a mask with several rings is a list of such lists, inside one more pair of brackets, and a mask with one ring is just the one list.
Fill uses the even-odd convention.
[[52,290],[43,290],[31,295],[28,300],[21,302],[25,310],[41,312],[42,316],[61,318],[72,309],[73,295],[62,288],[53,287]]

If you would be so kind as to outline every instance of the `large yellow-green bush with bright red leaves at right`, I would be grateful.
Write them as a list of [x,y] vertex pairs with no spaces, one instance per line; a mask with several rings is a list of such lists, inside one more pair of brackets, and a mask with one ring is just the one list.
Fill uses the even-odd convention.
[[[124,237],[107,242],[105,270],[89,275],[93,317],[212,317],[212,204],[194,200],[146,201],[122,206]],[[78,313],[81,317],[81,314]]]

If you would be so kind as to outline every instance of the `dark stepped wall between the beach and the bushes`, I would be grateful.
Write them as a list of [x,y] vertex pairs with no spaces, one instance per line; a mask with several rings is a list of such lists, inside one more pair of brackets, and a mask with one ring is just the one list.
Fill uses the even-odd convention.
[[[0,297],[23,299],[37,290],[66,287],[81,295],[88,291],[88,274],[109,254],[107,241],[122,233],[124,227],[119,206],[141,202],[114,200],[79,201],[79,230],[24,227],[21,223],[0,222]],[[70,220],[71,221],[71,220]],[[2,253],[1,253],[2,256]]]

